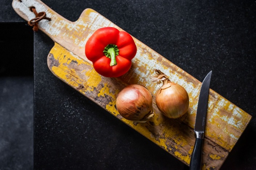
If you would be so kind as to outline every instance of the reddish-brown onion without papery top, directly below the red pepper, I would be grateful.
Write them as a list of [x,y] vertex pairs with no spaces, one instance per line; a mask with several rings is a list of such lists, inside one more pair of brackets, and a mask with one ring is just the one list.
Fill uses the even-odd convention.
[[128,85],[122,89],[116,99],[117,111],[127,119],[147,122],[154,116],[152,96],[142,85]]

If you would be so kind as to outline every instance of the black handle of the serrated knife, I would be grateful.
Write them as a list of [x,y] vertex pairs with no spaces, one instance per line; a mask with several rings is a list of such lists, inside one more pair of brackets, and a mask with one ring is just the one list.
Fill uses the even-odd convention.
[[190,158],[190,170],[201,170],[203,139],[196,138],[195,146]]

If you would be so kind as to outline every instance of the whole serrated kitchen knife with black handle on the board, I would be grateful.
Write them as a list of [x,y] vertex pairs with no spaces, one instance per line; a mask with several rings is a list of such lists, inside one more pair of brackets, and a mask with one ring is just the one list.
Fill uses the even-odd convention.
[[207,76],[204,78],[199,99],[198,106],[196,111],[196,120],[195,120],[195,135],[196,141],[193,152],[190,158],[190,170],[200,170],[202,165],[202,149],[203,149],[203,138],[204,138],[204,129],[206,122],[206,113],[208,106],[208,96],[210,89],[212,71],[210,71]]

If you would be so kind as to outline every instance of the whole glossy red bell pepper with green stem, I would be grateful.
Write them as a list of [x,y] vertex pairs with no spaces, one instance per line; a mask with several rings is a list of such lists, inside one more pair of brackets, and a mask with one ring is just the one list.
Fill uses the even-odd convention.
[[131,35],[114,27],[95,31],[85,45],[85,55],[96,72],[105,77],[119,77],[131,68],[137,47]]

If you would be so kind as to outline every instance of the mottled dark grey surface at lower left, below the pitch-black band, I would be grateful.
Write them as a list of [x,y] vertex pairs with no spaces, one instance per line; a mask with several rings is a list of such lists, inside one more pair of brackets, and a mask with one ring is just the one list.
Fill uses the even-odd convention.
[[[33,65],[32,65],[33,67]],[[33,169],[33,77],[0,77],[0,169]]]

